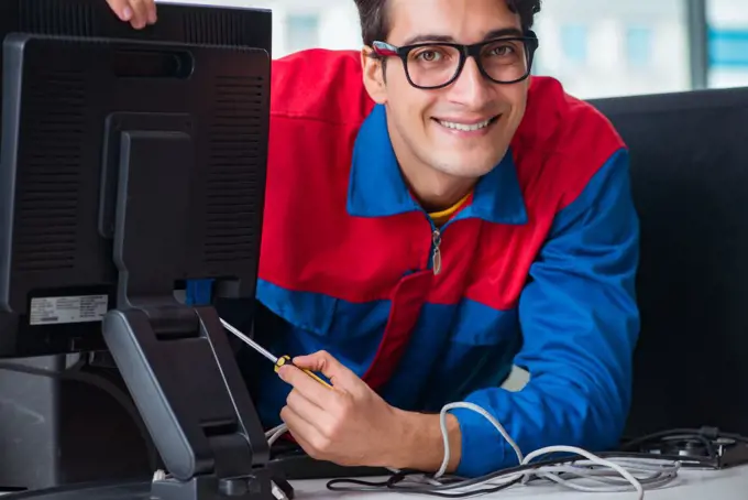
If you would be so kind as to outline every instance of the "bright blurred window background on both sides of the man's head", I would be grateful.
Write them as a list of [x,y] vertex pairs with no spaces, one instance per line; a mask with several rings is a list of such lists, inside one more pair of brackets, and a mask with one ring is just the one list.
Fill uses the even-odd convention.
[[[353,0],[187,1],[273,9],[274,57],[361,47]],[[748,0],[544,0],[536,32],[535,73],[580,98],[748,86]]]

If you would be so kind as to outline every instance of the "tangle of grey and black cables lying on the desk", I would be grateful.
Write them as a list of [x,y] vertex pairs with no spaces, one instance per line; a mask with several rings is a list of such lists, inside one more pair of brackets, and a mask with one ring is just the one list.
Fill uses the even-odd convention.
[[[518,466],[499,470],[483,477],[464,479],[447,475],[451,450],[447,432],[447,414],[451,410],[466,409],[481,414],[506,439],[517,455]],[[333,479],[327,483],[332,491],[381,491],[418,493],[441,498],[464,498],[501,491],[516,485],[532,485],[550,481],[585,492],[637,493],[642,500],[645,490],[663,487],[672,481],[680,470],[679,460],[662,459],[653,454],[604,453],[592,454],[573,446],[548,446],[524,456],[504,426],[485,409],[472,403],[450,403],[440,412],[440,427],[444,444],[444,458],[436,474],[389,469],[393,475],[385,480]],[[265,433],[272,446],[288,427],[280,424]],[[544,459],[551,454],[569,455],[561,459]],[[535,463],[532,463],[535,460]],[[584,482],[581,482],[584,481]],[[340,486],[340,485],[351,486]]]

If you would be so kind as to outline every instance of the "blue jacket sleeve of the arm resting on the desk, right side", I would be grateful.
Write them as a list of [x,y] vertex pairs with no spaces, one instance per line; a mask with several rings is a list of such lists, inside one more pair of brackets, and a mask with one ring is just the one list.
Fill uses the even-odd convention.
[[[639,334],[635,278],[639,221],[628,152],[616,152],[554,219],[519,298],[522,348],[515,365],[530,373],[519,392],[476,391],[466,401],[494,415],[522,454],[552,446],[618,446],[631,399]],[[458,474],[474,477],[517,464],[483,416],[455,410],[462,433]]]

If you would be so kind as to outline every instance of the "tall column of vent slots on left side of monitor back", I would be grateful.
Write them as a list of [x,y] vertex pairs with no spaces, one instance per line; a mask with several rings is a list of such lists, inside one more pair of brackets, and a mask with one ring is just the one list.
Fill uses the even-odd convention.
[[15,206],[14,263],[22,271],[73,268],[84,140],[80,75],[50,72],[25,87]]

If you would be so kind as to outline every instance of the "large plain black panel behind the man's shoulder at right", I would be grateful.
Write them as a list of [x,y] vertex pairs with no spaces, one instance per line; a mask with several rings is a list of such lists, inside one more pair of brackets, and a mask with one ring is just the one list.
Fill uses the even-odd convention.
[[641,218],[626,434],[748,435],[748,88],[591,104],[630,149]]

